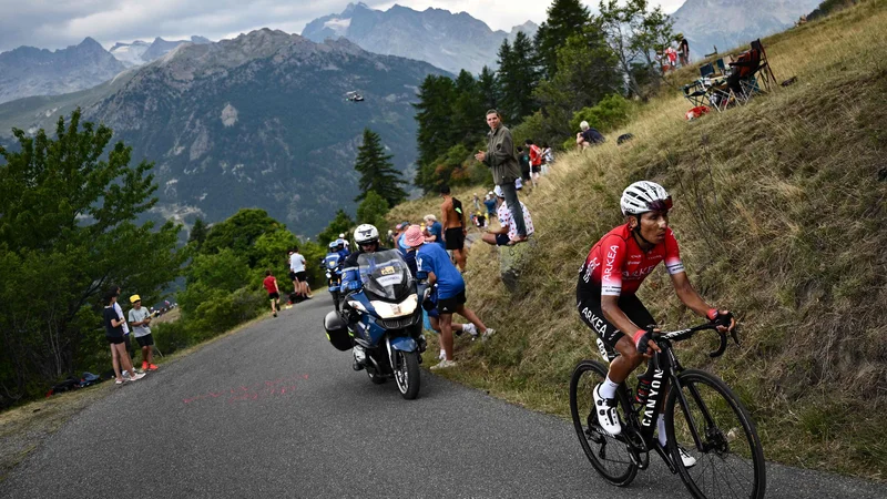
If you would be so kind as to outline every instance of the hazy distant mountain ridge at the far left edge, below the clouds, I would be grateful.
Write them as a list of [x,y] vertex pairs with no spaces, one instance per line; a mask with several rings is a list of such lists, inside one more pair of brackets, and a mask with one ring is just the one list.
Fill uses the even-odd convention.
[[0,53],[0,103],[88,89],[124,69],[123,62],[89,37],[55,51],[19,47]]

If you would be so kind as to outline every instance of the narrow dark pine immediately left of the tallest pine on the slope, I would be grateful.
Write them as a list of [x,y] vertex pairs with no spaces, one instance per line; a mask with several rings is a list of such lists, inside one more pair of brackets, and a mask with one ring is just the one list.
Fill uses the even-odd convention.
[[514,43],[508,40],[499,48],[499,88],[502,95],[501,111],[506,120],[514,124],[529,116],[538,108],[533,89],[539,84],[533,45],[526,33],[518,32]]

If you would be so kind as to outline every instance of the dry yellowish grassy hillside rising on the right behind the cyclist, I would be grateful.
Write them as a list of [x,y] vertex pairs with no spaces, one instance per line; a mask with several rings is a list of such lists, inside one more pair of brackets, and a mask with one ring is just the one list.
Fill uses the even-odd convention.
[[[570,373],[597,357],[574,309],[577,271],[622,222],[622,189],[655,180],[674,196],[671,223],[695,287],[741,322],[741,347],[712,361],[714,339],[697,337],[680,346],[684,365],[741,395],[767,459],[887,478],[885,7],[870,0],[765,40],[777,79],[797,77],[792,86],[694,122],[683,120],[680,93],[666,92],[611,134],[633,142],[559,156],[524,197],[538,244],[519,292],[501,284],[497,249],[472,248],[469,306],[500,334],[457,340],[459,367],[446,376],[568,416]],[[438,203],[398,206],[391,221],[437,214]],[[665,327],[699,320],[662,268],[640,296]]]

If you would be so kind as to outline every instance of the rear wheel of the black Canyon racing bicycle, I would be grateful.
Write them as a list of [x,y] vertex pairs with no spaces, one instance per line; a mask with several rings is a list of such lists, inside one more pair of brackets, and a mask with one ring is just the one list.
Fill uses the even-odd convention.
[[[609,482],[624,487],[634,480],[638,466],[624,442],[604,431],[594,413],[594,387],[606,378],[606,368],[593,360],[582,360],[570,379],[570,414],[579,444],[594,469]],[[623,390],[616,393],[622,414],[630,407]],[[623,422],[623,427],[624,427]]]

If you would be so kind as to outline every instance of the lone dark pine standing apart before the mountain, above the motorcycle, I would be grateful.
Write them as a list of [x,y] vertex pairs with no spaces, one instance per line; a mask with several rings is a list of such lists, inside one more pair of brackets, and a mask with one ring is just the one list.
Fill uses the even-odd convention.
[[357,187],[360,194],[355,201],[361,201],[369,191],[380,195],[388,206],[394,206],[407,198],[407,193],[400,189],[406,184],[404,175],[395,170],[391,155],[385,154],[379,134],[364,129],[364,143],[357,149],[357,160],[354,169],[360,173]]

